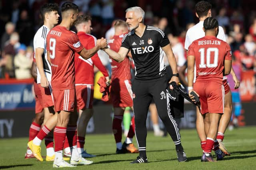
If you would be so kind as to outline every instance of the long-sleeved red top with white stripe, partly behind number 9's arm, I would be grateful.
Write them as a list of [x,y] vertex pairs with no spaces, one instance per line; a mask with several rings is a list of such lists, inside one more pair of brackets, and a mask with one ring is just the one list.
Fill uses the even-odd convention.
[[[96,45],[96,38],[84,32],[77,33],[80,42],[85,49],[92,49]],[[78,53],[75,54],[76,85],[94,84],[94,64],[107,77],[108,71],[100,61],[98,53],[90,59],[83,59]]]

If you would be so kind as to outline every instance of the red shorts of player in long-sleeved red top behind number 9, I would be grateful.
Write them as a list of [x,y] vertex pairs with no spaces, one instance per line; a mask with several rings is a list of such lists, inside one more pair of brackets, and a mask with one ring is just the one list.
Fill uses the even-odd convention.
[[93,92],[93,85],[76,86],[76,101],[78,109],[92,109]]

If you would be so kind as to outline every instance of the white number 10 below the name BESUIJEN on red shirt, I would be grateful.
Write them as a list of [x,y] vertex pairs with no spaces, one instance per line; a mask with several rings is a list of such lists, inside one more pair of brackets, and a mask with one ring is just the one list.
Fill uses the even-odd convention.
[[[206,49],[206,64],[204,63],[204,48],[200,48],[199,52],[200,52],[200,64],[199,67],[200,68],[214,68],[218,66],[218,55],[219,55],[219,49],[218,48],[208,48]],[[211,52],[214,53],[214,62],[210,63],[211,61]]]

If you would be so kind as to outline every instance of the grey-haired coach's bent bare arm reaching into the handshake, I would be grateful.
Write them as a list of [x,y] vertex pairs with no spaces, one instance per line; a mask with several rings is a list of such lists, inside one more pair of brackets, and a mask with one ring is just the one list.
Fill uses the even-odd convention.
[[109,57],[111,57],[118,63],[122,62],[125,59],[126,55],[129,53],[129,49],[126,49],[124,47],[120,47],[118,53],[109,48],[105,48],[103,50],[109,55]]

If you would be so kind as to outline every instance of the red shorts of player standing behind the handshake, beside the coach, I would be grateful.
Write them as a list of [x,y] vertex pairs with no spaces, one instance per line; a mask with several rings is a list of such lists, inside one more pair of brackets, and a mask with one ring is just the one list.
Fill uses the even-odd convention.
[[110,98],[113,107],[132,107],[132,86],[130,80],[114,79],[111,82]]

